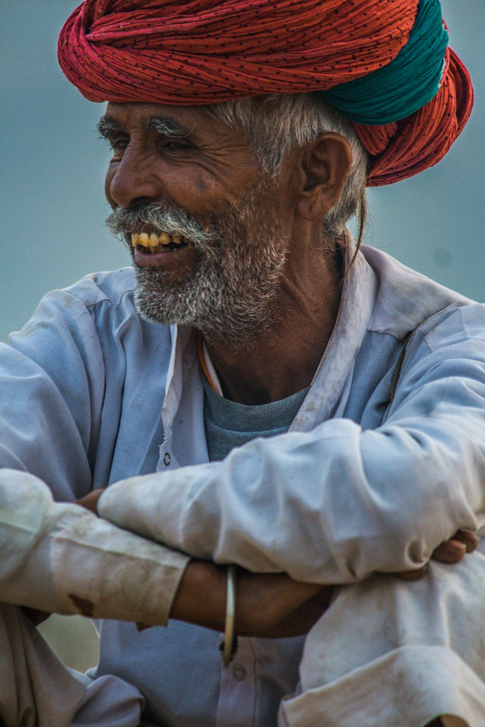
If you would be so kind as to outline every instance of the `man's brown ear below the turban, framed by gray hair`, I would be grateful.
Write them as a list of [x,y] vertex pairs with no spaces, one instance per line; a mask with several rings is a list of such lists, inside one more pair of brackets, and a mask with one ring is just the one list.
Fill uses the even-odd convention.
[[323,220],[342,194],[352,164],[345,137],[329,132],[302,148],[298,163],[297,211],[305,220]]

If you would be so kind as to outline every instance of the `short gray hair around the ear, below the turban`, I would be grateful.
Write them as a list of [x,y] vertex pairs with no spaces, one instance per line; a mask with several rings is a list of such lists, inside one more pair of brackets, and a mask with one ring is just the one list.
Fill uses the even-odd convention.
[[352,150],[352,166],[339,201],[326,214],[323,233],[337,241],[347,222],[358,216],[358,241],[364,233],[366,217],[366,177],[369,154],[348,119],[318,93],[274,94],[249,97],[206,107],[211,116],[229,126],[239,126],[248,137],[260,164],[275,175],[284,156],[320,134],[337,132]]

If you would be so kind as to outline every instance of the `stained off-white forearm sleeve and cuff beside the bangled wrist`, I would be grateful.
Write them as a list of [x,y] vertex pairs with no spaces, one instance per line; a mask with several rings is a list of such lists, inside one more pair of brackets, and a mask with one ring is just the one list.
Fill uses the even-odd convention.
[[58,614],[166,624],[188,558],[0,470],[0,600]]

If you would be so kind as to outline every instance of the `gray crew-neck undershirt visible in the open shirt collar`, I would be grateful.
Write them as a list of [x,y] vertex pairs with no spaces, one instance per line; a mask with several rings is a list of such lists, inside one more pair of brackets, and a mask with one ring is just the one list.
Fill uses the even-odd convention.
[[204,426],[209,461],[224,459],[231,449],[256,437],[287,432],[309,388],[281,401],[246,406],[216,394],[204,377]]

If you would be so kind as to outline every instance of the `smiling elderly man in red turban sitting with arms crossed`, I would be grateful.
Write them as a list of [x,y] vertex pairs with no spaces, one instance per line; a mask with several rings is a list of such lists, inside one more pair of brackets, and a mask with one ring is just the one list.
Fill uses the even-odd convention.
[[[222,668],[201,626],[223,626],[225,573],[167,553],[172,621],[103,621],[94,684],[167,726],[274,725],[284,697],[282,726],[483,724],[484,556],[385,574],[484,525],[484,309],[345,231],[366,185],[435,164],[468,119],[438,2],[87,0],[59,57],[109,102],[108,225],[135,275],[51,294],[4,349],[1,465],[88,505],[111,485],[113,537],[307,582],[284,582],[293,610],[335,587],[304,651],[243,637]],[[143,620],[61,561],[79,611]]]

